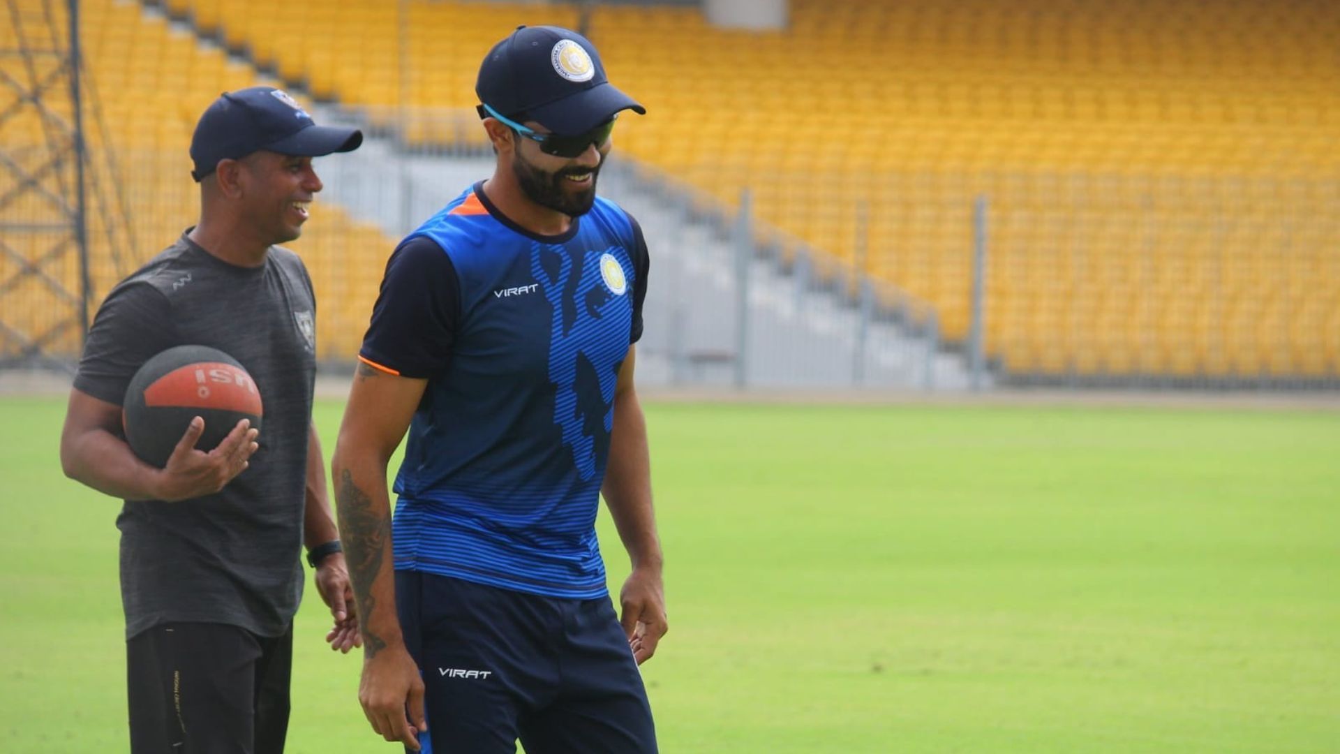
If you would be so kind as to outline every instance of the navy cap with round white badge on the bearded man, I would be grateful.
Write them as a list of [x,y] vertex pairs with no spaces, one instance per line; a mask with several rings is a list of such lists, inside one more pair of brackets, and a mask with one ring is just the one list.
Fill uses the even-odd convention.
[[556,134],[586,133],[620,110],[647,110],[604,76],[584,36],[559,27],[517,27],[489,50],[474,83],[480,102],[512,117],[520,113]]

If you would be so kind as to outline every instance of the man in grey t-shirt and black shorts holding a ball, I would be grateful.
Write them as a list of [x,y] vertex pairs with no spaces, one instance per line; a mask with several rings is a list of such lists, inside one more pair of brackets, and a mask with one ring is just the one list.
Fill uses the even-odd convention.
[[[60,462],[125,499],[117,526],[135,754],[283,751],[304,543],[335,618],[327,640],[346,652],[358,644],[311,423],[316,302],[303,262],[275,244],[302,233],[322,189],[312,157],[362,138],[315,125],[272,87],[221,95],[190,146],[200,223],[107,295],[84,343]],[[196,448],[197,416],[157,468],[126,444],[122,400],[145,361],[178,345],[220,349],[251,373],[264,435],[244,420],[217,448]]]

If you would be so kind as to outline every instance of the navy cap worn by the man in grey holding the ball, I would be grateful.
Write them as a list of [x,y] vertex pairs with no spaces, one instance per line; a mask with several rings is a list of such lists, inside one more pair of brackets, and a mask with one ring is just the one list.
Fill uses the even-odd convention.
[[363,131],[318,126],[292,97],[272,86],[225,91],[205,109],[190,138],[196,181],[214,172],[220,160],[240,160],[261,149],[280,154],[320,157],[352,152]]

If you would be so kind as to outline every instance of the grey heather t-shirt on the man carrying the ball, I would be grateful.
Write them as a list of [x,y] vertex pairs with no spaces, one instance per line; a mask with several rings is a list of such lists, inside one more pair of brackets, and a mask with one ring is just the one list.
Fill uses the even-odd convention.
[[222,491],[122,507],[127,639],[159,623],[224,623],[260,636],[288,629],[303,594],[315,322],[312,283],[296,254],[271,247],[265,264],[237,267],[185,235],[113,288],[98,310],[76,389],[121,405],[151,356],[204,345],[236,358],[264,405],[260,449]]

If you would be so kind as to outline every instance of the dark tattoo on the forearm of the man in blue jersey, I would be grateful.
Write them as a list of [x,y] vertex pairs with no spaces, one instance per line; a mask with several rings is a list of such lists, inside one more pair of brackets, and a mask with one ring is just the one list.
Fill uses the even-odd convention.
[[373,633],[368,618],[377,606],[373,582],[382,570],[382,549],[391,538],[391,518],[386,511],[373,508],[371,498],[354,484],[347,468],[340,474],[335,500],[344,541],[344,562],[348,563],[348,578],[354,582],[358,625],[363,632],[363,651],[371,659],[386,647],[386,641]]

